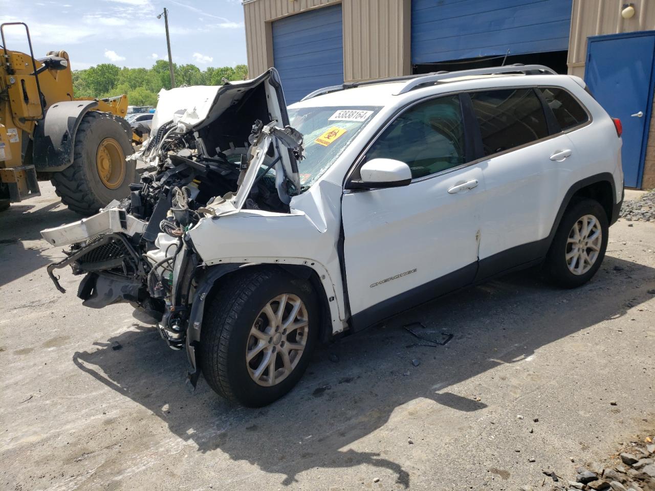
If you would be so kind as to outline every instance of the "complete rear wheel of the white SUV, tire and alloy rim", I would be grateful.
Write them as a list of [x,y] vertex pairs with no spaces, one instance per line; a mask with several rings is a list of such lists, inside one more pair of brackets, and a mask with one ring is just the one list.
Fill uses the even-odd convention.
[[546,271],[553,282],[575,288],[591,280],[603,263],[609,225],[599,202],[574,202],[559,223],[546,257]]

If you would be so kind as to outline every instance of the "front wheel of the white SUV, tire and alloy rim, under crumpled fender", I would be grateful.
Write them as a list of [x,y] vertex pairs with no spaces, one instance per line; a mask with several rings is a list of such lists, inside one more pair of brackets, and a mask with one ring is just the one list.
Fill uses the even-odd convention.
[[274,268],[253,268],[224,283],[211,301],[200,365],[212,389],[247,407],[265,406],[290,391],[318,338],[310,283]]

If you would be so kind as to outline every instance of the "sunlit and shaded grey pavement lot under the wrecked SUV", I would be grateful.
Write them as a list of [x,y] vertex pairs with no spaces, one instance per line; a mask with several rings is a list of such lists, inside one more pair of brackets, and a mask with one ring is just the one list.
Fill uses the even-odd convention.
[[655,433],[655,223],[618,221],[584,287],[527,271],[426,304],[253,410],[189,393],[128,306],[52,287],[39,230],[73,219],[48,185],[0,214],[0,489],[550,490]]

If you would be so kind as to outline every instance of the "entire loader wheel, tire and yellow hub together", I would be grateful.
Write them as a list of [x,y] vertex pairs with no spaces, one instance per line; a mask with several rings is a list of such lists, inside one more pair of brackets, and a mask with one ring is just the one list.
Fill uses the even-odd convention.
[[73,164],[52,175],[57,196],[81,215],[120,201],[130,193],[136,175],[136,164],[125,160],[132,152],[131,136],[118,117],[86,113],[75,134]]

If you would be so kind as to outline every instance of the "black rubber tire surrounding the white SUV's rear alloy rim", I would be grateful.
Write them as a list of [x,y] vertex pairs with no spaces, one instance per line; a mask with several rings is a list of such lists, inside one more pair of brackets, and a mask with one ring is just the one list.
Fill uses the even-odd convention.
[[[572,232],[573,226],[586,215],[592,215],[599,223],[601,231],[600,250],[588,271],[583,274],[574,274],[569,269],[566,259],[567,253],[570,252],[569,249],[573,247],[568,243],[569,234]],[[591,280],[598,268],[601,267],[601,263],[603,263],[603,259],[605,258],[608,231],[607,213],[599,202],[588,198],[572,202],[559,223],[555,238],[553,238],[548,256],[546,257],[546,273],[553,283],[564,288],[576,288]],[[586,251],[591,252],[591,249],[586,249]]]

